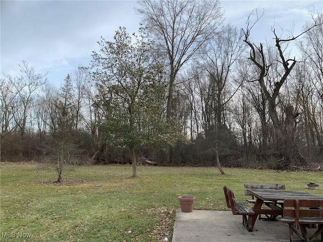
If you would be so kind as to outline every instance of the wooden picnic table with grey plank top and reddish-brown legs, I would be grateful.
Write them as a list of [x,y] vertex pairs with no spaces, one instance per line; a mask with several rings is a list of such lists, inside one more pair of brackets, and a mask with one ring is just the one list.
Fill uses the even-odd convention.
[[[283,208],[277,206],[277,201],[285,199],[298,199],[298,200],[323,200],[323,197],[307,193],[304,191],[290,191],[290,190],[272,190],[272,189],[247,189],[247,191],[254,195],[256,202],[252,210],[254,215],[248,216],[248,231],[252,231],[254,224],[259,214],[269,214],[273,216],[283,215]],[[271,204],[266,204],[271,209],[263,209],[262,204],[264,201],[273,201]]]

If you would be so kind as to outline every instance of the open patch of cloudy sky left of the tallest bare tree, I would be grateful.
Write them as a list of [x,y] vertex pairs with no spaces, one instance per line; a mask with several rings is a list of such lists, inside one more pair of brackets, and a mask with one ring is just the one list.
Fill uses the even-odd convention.
[[88,60],[101,35],[112,39],[119,25],[137,31],[134,5],[133,1],[1,1],[1,72],[18,73],[22,59],[40,72],[74,69],[71,63]]

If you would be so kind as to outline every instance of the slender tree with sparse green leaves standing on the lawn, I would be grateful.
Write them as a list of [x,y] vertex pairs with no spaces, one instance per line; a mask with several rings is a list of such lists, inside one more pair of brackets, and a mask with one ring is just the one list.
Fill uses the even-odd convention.
[[90,76],[99,93],[96,105],[104,106],[107,113],[104,145],[128,147],[132,176],[136,176],[136,147],[172,140],[162,118],[167,86],[163,66],[154,57],[143,29],[132,38],[120,27],[114,42],[101,37],[98,44],[100,53],[92,54]]

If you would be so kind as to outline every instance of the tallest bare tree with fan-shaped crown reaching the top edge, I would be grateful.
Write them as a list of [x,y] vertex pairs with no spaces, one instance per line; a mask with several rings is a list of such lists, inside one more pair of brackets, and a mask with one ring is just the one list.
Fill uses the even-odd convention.
[[206,0],[138,0],[137,12],[157,40],[157,49],[168,58],[167,118],[172,116],[176,75],[200,46],[216,34],[223,20],[220,2]]

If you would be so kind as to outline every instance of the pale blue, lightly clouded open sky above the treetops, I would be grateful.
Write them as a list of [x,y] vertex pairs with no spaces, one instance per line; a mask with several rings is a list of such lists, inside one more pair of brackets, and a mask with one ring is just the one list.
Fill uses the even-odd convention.
[[[209,0],[212,1],[212,0]],[[221,0],[220,0],[221,1]],[[6,1],[1,0],[0,71],[20,76],[22,60],[49,83],[63,84],[77,66],[89,66],[101,36],[113,41],[119,26],[138,32],[140,16],[136,1]],[[275,29],[294,29],[294,35],[310,20],[309,13],[323,12],[322,0],[222,0],[226,22],[246,27],[246,19],[258,8],[264,15],[251,33],[255,41],[272,38]]]

